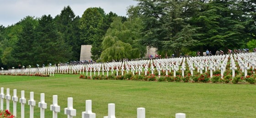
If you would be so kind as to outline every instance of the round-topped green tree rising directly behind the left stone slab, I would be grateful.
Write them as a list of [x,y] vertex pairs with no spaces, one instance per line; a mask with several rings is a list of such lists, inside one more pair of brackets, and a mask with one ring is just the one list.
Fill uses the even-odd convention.
[[105,12],[103,9],[88,8],[80,19],[80,39],[83,44],[92,44],[92,60],[98,59],[101,55],[101,42],[105,34],[104,18]]

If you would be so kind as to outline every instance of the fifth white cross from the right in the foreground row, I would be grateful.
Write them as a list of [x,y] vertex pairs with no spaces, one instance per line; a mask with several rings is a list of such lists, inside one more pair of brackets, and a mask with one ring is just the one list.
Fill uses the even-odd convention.
[[73,108],[73,98],[68,98],[68,108],[64,108],[64,114],[68,115],[68,118],[76,116],[76,109]]

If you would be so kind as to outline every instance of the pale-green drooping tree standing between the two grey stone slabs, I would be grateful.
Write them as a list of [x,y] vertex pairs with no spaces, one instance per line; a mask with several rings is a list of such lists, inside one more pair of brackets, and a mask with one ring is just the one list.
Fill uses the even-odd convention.
[[[122,18],[113,20],[103,39],[102,61],[141,58],[145,54],[145,46],[139,44],[141,38],[141,20],[134,18],[122,23]],[[116,52],[115,52],[116,51]]]

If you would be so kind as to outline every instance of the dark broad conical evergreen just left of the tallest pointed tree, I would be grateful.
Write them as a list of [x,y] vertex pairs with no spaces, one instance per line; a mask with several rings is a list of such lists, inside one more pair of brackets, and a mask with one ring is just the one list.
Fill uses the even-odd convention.
[[36,41],[33,44],[37,64],[67,62],[71,59],[71,48],[65,43],[54,25],[50,15],[43,15],[36,29]]

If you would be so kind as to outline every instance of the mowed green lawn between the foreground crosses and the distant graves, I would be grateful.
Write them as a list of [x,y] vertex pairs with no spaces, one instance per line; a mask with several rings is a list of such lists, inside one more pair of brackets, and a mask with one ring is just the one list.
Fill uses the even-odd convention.
[[[92,112],[96,118],[107,116],[108,103],[115,103],[116,118],[136,118],[137,108],[144,107],[146,118],[175,118],[175,113],[186,113],[186,118],[256,118],[255,84],[212,84],[181,82],[149,82],[132,80],[79,79],[80,74],[55,74],[54,77],[4,76],[0,75],[0,87],[25,90],[25,98],[34,92],[34,118],[40,118],[40,93],[45,93],[45,118],[52,118],[50,104],[58,95],[61,112],[66,118],[68,97],[73,97],[76,117],[85,111],[85,100],[92,100]],[[10,102],[12,113],[12,101]],[[6,100],[4,100],[6,104]],[[4,109],[5,109],[4,105]],[[17,103],[20,118],[21,103]],[[29,118],[29,105],[25,105],[25,118]]]

